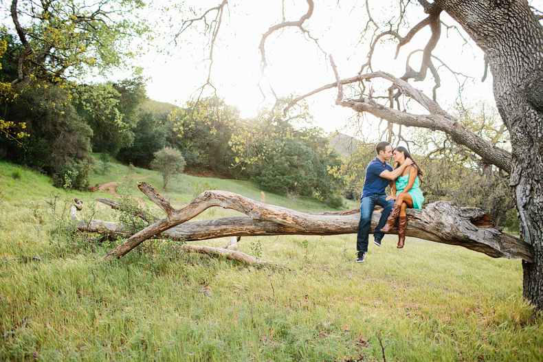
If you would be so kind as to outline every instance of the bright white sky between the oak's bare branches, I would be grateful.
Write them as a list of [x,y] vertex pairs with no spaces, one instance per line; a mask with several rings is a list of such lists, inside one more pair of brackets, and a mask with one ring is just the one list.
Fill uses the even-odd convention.
[[[285,18],[287,21],[297,21],[307,10],[306,1],[285,0]],[[219,0],[185,1],[185,8],[192,3],[195,9],[208,9],[218,5]],[[228,104],[238,106],[242,117],[256,115],[258,106],[269,105],[274,99],[265,89],[261,94],[257,84],[261,79],[260,53],[258,44],[269,27],[279,23],[282,16],[282,1],[230,1],[230,10],[223,16],[223,24],[219,32],[214,51],[212,65],[212,82],[217,87],[219,96],[225,98]],[[332,54],[341,78],[355,76],[360,66],[366,62],[368,42],[359,43],[360,32],[366,25],[367,13],[361,0],[315,1],[313,16],[304,24],[311,36],[318,38],[319,44],[326,52]],[[377,19],[397,4],[397,1],[370,1],[376,5],[370,8],[372,16]],[[182,16],[175,10],[168,13],[173,23],[181,23],[183,19],[197,16]],[[197,10],[198,16],[203,11]],[[423,11],[419,5],[410,7],[410,24],[414,25],[423,19]],[[361,20],[362,19],[362,20]],[[447,25],[455,25],[446,14],[442,21]],[[164,19],[163,24],[168,23]],[[201,30],[201,28],[199,28]],[[403,30],[401,35],[405,35]],[[419,32],[412,41],[402,48],[398,60],[393,60],[396,43],[389,42],[388,47],[381,47],[374,55],[374,71],[382,70],[401,76],[405,69],[406,56],[414,49],[420,49],[428,40],[429,31]],[[144,58],[144,75],[151,77],[147,87],[148,96],[160,102],[184,104],[190,97],[199,93],[198,89],[208,77],[209,47],[207,38],[199,32],[191,30],[183,36],[184,41],[177,47],[170,47],[170,56],[166,54],[150,54]],[[164,47],[165,41],[156,41]],[[267,80],[279,96],[301,95],[335,81],[329,60],[318,49],[315,43],[304,37],[297,28],[287,28],[268,38],[266,43]],[[412,56],[411,64],[415,69],[420,67],[417,59],[420,54]],[[469,44],[463,44],[456,30],[443,31],[441,41],[434,54],[443,60],[454,71],[475,76],[468,80],[465,87],[465,99],[469,102],[492,99],[491,76],[485,83],[480,82],[483,73],[483,54]],[[439,62],[436,60],[436,65]],[[450,71],[440,69],[442,87],[438,90],[438,102],[445,109],[456,98],[458,84]],[[428,72],[428,81],[415,83],[431,95],[433,80]],[[374,84],[379,87],[379,84]],[[209,95],[209,93],[204,93]],[[348,117],[353,115],[350,109],[334,106],[337,91],[335,89],[313,95],[308,99],[311,113],[315,121],[325,131],[333,131],[338,126],[346,124]],[[373,122],[374,137],[377,122]],[[381,126],[382,128],[382,126]]]

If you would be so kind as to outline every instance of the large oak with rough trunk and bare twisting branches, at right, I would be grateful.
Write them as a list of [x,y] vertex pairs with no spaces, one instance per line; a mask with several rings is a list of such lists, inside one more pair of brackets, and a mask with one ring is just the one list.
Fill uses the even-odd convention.
[[[299,1],[302,3],[302,1]],[[340,5],[342,1],[339,2]],[[313,36],[312,16],[324,11],[323,1],[306,0],[301,16],[291,16],[282,1],[282,17],[270,23],[263,30],[261,42],[252,45],[258,49],[261,58],[261,73],[266,76],[269,67],[267,45],[271,36],[285,36],[287,29],[298,31],[308,41],[318,45]],[[190,16],[180,22],[176,38],[183,36],[188,27],[195,23],[206,26],[210,39],[209,58],[213,64],[213,52],[221,36],[221,23],[228,1],[217,1],[217,6],[202,10],[197,16]],[[351,27],[353,42],[362,39],[361,46],[368,49],[367,58],[353,57],[349,62],[359,64],[357,74],[342,78],[342,68],[336,67],[328,56],[330,69],[334,71],[332,82],[322,77],[322,87],[308,90],[291,102],[324,91],[337,89],[335,104],[352,109],[357,113],[373,115],[386,120],[390,131],[392,124],[403,127],[421,127],[446,133],[456,144],[465,146],[480,161],[500,168],[510,175],[511,199],[515,203],[520,223],[520,236],[533,248],[532,262],[522,262],[524,285],[523,295],[538,309],[543,309],[543,19],[541,9],[533,8],[527,0],[409,0],[357,2],[356,9],[363,7],[366,14],[357,18]],[[300,11],[300,8],[297,9]],[[349,12],[353,9],[345,9]],[[373,11],[375,10],[375,12]],[[410,22],[416,14],[419,20]],[[413,19],[411,17],[411,19]],[[445,20],[444,20],[445,19]],[[448,25],[450,21],[456,25]],[[414,25],[413,25],[414,24]],[[324,27],[327,28],[326,23]],[[428,32],[423,33],[423,30]],[[323,30],[321,34],[324,32]],[[432,52],[439,42],[446,42],[447,32],[459,32],[471,41],[485,56],[485,76],[491,73],[494,100],[509,131],[511,151],[495,146],[476,135],[447,113],[437,102],[437,89],[441,86],[440,68],[447,66]],[[381,69],[383,63],[375,63],[375,49],[379,45],[392,45],[395,56],[401,49],[410,47],[417,34],[427,34],[423,49],[412,49],[405,56],[403,71],[392,73]],[[228,34],[228,33],[225,33]],[[339,39],[338,39],[339,40]],[[348,43],[348,42],[347,42]],[[349,44],[351,46],[352,43]],[[324,52],[323,52],[324,53]],[[317,52],[315,52],[317,54]],[[421,54],[418,64],[414,54]],[[391,58],[394,56],[392,52]],[[307,61],[307,60],[305,60]],[[450,69],[450,68],[449,68]],[[427,80],[428,74],[434,79],[434,87],[428,96],[416,89],[411,82]],[[323,71],[322,74],[326,74]],[[206,84],[210,85],[210,77]],[[373,89],[370,84],[386,84]],[[270,87],[273,91],[273,87]],[[278,98],[277,98],[278,99]],[[287,107],[288,108],[288,107]]]

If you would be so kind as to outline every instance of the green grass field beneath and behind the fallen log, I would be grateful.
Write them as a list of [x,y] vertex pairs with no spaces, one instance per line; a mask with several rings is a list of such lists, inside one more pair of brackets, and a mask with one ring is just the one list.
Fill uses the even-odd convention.
[[[135,187],[143,177],[175,207],[204,182],[261,199],[247,181],[187,175],[164,192],[156,172],[118,163],[91,182],[126,181],[145,199]],[[413,238],[399,250],[386,236],[356,264],[355,236],[346,235],[239,242],[240,251],[289,269],[149,241],[104,262],[115,242],[55,232],[69,227],[65,205],[74,197],[85,203],[80,216],[118,220],[93,203],[97,196],[113,197],[68,194],[43,174],[0,162],[0,361],[384,361],[383,353],[386,361],[543,361],[543,318],[522,300],[519,260]],[[266,202],[326,210],[302,197],[267,193]]]

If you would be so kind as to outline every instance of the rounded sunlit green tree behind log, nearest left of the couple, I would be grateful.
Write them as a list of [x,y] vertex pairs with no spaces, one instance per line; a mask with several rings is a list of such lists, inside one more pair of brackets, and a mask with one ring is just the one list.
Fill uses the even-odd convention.
[[[302,113],[300,117],[310,116]],[[331,207],[343,206],[343,181],[334,175],[341,160],[322,129],[296,129],[289,120],[276,117],[269,123],[261,117],[241,126],[231,144],[239,152],[236,161],[245,163],[265,190],[313,196]]]

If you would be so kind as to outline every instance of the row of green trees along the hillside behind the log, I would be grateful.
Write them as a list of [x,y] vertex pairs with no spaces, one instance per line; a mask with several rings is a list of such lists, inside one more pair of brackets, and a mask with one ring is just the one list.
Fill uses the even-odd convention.
[[[3,81],[16,78],[20,49],[7,44]],[[263,190],[343,205],[343,181],[329,172],[340,166],[339,155],[322,130],[294,124],[309,121],[307,111],[243,120],[239,109],[214,97],[177,107],[149,100],[145,80],[136,77],[100,84],[36,78],[1,102],[0,112],[10,124],[0,158],[44,172],[57,187],[69,178],[71,187],[89,188],[101,162],[91,152],[150,168],[153,154],[168,146],[181,151],[188,171],[252,179]]]

